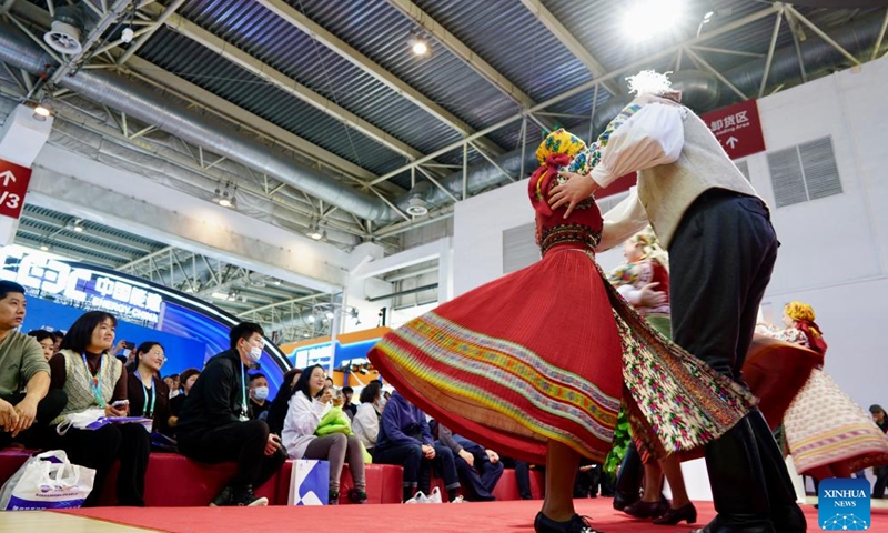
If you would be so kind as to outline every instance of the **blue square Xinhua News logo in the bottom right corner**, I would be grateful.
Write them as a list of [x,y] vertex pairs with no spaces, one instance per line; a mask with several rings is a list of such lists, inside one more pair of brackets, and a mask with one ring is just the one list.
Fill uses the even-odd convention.
[[833,477],[820,482],[823,531],[868,531],[872,523],[869,511],[869,481]]

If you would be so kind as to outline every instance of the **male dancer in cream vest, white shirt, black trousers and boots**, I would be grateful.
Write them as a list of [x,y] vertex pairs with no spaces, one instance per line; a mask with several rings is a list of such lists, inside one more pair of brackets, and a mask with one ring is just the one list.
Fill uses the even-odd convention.
[[[638,185],[604,215],[598,250],[648,223],[668,248],[673,340],[738,383],[756,316],[777,259],[770,213],[706,123],[677,103],[662,74],[630,79],[642,95],[609,137],[588,175],[552,191],[567,213],[597,189],[637,172]],[[655,87],[659,86],[659,87]],[[652,94],[659,94],[659,98]],[[718,515],[698,533],[797,533],[807,530],[791,479],[768,424],[751,411],[706,445]]]

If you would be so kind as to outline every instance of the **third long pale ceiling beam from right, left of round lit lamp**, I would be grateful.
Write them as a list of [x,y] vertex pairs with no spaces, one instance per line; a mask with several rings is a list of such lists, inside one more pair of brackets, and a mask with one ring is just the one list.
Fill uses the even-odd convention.
[[[475,130],[471,125],[432,101],[432,99],[425,94],[408,86],[404,80],[371,61],[370,58],[350,47],[345,41],[324,29],[321,24],[295,10],[284,0],[256,0],[256,2],[292,26],[304,31],[311,36],[312,39],[317,40],[326,48],[333,50],[343,59],[372,76],[377,81],[384,83],[402,98],[407,99],[435,119],[458,131],[463,137],[475,133]],[[500,147],[487,139],[482,140],[482,144],[488,153],[493,153],[494,155],[502,155],[504,153]]]

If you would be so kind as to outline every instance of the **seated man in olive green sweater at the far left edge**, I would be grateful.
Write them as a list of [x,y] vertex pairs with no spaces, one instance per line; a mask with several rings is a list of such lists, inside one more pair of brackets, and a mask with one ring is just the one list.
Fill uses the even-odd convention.
[[68,401],[64,392],[49,390],[49,364],[38,341],[17,331],[24,306],[24,288],[0,281],[0,450],[13,440],[42,447],[49,422]]

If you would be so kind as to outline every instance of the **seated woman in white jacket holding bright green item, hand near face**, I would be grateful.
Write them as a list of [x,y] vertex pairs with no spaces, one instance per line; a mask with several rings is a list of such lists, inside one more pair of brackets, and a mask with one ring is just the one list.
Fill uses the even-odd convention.
[[[349,499],[354,503],[366,503],[364,459],[357,436],[346,435],[345,432],[315,435],[322,419],[333,408],[333,389],[325,386],[323,366],[317,364],[305,369],[293,389],[282,435],[287,455],[291,459],[330,461],[331,504],[339,503],[340,476],[347,459],[354,481],[354,489],[349,491]],[[351,428],[347,433],[351,433]]]

